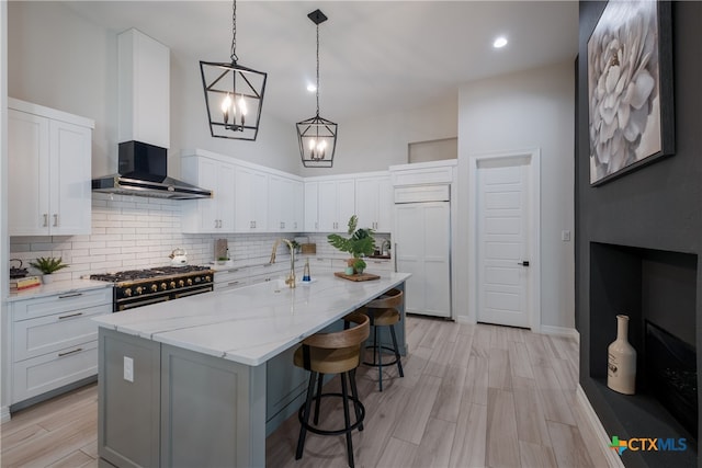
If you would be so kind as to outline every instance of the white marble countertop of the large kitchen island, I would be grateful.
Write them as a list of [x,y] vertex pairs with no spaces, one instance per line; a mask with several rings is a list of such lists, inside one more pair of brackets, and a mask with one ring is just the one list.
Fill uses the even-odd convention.
[[351,282],[319,271],[296,288],[263,283],[155,304],[95,318],[100,327],[258,366],[374,297],[407,273]]

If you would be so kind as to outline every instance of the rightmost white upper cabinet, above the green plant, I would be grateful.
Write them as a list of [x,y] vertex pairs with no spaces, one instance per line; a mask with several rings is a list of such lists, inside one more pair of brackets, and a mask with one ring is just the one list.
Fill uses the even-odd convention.
[[390,176],[356,178],[355,214],[359,227],[376,232],[389,232],[393,228],[393,185]]

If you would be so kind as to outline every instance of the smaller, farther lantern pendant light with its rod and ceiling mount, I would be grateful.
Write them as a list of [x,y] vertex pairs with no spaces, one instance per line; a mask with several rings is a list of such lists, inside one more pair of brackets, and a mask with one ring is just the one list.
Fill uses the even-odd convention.
[[337,149],[337,124],[319,116],[319,23],[327,16],[319,10],[307,15],[317,25],[317,114],[298,122],[299,155],[305,168],[331,168]]

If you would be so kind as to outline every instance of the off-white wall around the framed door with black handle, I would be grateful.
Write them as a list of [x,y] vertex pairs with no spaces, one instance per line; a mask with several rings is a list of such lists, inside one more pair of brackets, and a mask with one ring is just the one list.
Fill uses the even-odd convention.
[[[541,323],[575,326],[574,242],[574,66],[570,62],[471,82],[458,92],[458,167],[461,212],[468,197],[471,155],[541,149]],[[457,259],[467,263],[467,218],[458,218]],[[463,259],[463,260],[462,260]],[[467,270],[458,272],[467,285]],[[457,304],[469,304],[467,288],[458,288]],[[467,310],[460,310],[469,317]],[[473,317],[475,317],[473,315]]]

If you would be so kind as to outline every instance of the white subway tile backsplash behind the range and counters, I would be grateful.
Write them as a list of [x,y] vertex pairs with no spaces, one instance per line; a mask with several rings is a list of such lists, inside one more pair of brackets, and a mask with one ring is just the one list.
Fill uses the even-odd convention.
[[[214,260],[215,239],[227,239],[234,260],[267,263],[276,239],[293,239],[293,235],[183,235],[181,232],[182,202],[161,198],[94,193],[92,198],[92,232],[81,236],[11,237],[11,258],[29,263],[37,256],[63,256],[71,266],[61,273],[65,278],[79,278],[92,273],[163,266],[176,248],[188,251],[192,264],[207,264]],[[326,244],[326,236],[318,238],[317,252],[333,252]],[[281,244],[278,262],[288,261],[288,252]],[[57,276],[56,279],[59,279]]]

